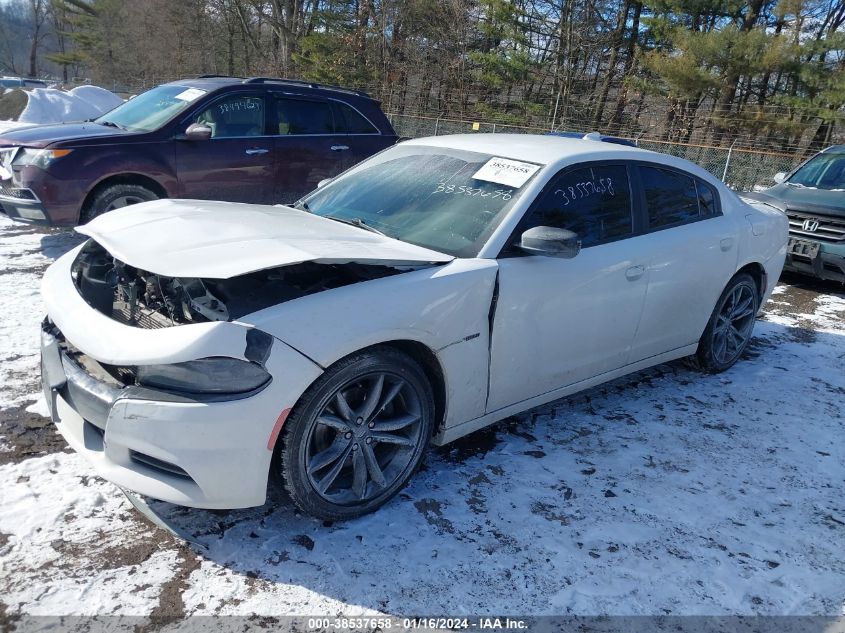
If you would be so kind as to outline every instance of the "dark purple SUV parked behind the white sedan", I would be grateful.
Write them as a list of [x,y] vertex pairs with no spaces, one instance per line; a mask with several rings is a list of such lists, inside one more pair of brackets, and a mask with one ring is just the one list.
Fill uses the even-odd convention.
[[93,121],[0,134],[0,209],[71,226],[163,197],[290,203],[396,140],[362,92],[264,77],[186,79]]

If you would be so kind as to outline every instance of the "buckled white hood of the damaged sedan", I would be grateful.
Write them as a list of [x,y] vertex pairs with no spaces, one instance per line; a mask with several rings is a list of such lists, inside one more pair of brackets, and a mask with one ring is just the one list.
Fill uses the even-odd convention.
[[410,266],[453,259],[291,207],[155,200],[76,228],[120,261],[165,277],[228,279],[302,262]]

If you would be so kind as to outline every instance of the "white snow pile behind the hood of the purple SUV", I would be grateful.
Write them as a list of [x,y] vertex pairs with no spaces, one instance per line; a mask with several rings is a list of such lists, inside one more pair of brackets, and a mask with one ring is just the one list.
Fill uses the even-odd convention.
[[116,94],[97,86],[80,86],[65,92],[54,88],[27,91],[29,102],[21,123],[65,123],[93,119],[123,103]]

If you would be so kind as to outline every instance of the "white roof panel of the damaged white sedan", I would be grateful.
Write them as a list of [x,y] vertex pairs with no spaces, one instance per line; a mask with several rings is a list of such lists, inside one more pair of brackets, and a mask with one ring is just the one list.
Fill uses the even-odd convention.
[[617,157],[615,155],[623,158],[623,154],[628,159],[636,158],[638,154],[654,155],[654,152],[638,147],[540,134],[449,134],[412,139],[405,143],[463,149],[544,165],[564,158],[602,160]]

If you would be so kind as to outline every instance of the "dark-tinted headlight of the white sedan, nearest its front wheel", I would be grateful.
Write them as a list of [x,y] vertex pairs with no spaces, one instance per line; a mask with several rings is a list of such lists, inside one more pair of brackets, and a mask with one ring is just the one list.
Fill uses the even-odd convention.
[[136,379],[145,387],[181,393],[245,393],[270,382],[270,374],[257,363],[218,356],[172,365],[141,365]]

